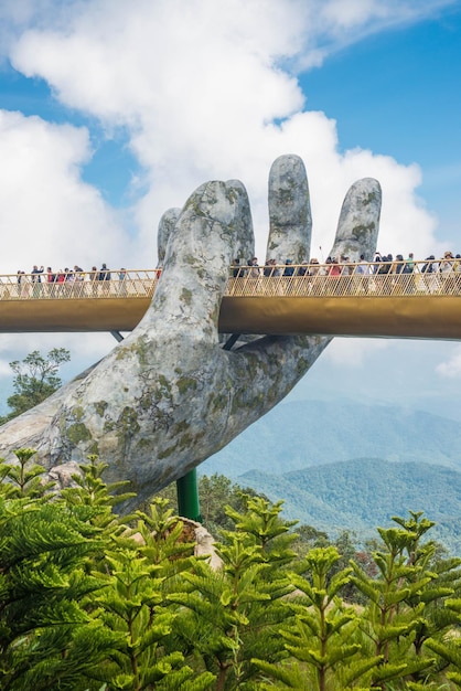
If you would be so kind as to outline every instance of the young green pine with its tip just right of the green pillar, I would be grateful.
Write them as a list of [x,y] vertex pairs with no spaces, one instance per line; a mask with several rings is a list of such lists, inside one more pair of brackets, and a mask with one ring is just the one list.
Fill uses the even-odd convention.
[[281,598],[292,591],[285,575],[294,556],[287,548],[294,539],[287,534],[291,523],[280,519],[280,503],[248,498],[247,506],[245,513],[226,508],[235,531],[223,531],[224,541],[215,544],[222,568],[197,562],[184,573],[187,592],[171,596],[189,610],[174,627],[178,645],[216,676],[216,691],[257,689],[253,658],[287,656],[279,629],[287,617]]

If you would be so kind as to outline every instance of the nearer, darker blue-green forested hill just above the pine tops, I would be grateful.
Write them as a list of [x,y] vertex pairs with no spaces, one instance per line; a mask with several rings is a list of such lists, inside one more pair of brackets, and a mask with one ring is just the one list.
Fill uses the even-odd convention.
[[437,523],[432,536],[461,554],[461,472],[451,468],[357,458],[282,476],[251,470],[238,483],[283,499],[286,518],[332,536],[344,529],[366,536],[393,515],[424,511]]

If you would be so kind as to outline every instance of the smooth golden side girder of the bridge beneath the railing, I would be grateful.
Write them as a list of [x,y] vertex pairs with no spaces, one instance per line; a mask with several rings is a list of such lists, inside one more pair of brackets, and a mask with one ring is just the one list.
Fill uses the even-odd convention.
[[[150,298],[0,301],[0,332],[131,331]],[[460,299],[407,297],[224,297],[222,333],[461,339]]]

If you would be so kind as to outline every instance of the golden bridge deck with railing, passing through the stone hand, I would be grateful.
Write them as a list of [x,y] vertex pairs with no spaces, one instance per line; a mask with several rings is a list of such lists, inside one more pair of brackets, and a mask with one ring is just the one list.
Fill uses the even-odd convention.
[[[221,333],[332,334],[382,338],[461,338],[461,266],[291,265],[230,270],[221,305]],[[265,272],[266,269],[266,272]],[[269,275],[265,275],[265,273]],[[234,274],[236,274],[234,276]],[[39,276],[41,281],[39,281]],[[158,269],[0,276],[0,332],[131,331],[146,313],[160,279]],[[121,337],[120,337],[121,338]]]

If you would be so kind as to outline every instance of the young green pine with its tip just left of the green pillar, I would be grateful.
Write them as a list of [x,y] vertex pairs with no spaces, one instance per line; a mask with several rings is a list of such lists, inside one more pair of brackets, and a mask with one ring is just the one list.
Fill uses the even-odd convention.
[[212,673],[195,671],[180,650],[168,649],[176,607],[170,592],[181,592],[180,574],[193,568],[193,546],[180,541],[182,523],[162,499],[136,524],[114,536],[105,554],[105,588],[92,598],[94,616],[119,635],[111,658],[93,671],[107,689],[125,691],[204,691]]

